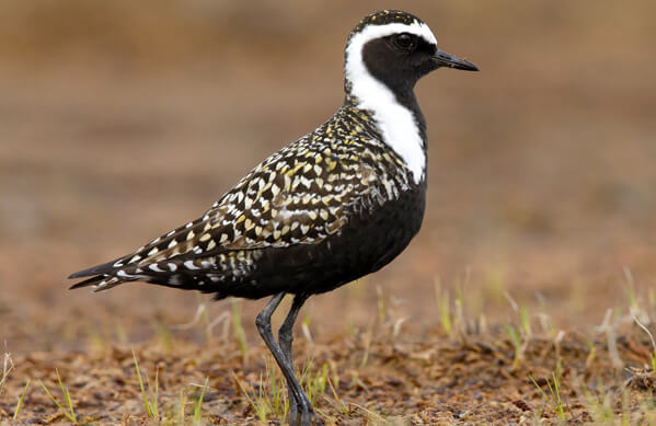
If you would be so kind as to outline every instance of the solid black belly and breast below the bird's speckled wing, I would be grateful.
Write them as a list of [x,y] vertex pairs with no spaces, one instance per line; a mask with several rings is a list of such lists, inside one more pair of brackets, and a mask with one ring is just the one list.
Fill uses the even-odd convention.
[[222,288],[216,297],[258,299],[280,291],[312,295],[373,273],[396,257],[419,231],[425,194],[425,184],[418,185],[375,211],[355,215],[339,233],[319,244],[267,249],[252,275]]

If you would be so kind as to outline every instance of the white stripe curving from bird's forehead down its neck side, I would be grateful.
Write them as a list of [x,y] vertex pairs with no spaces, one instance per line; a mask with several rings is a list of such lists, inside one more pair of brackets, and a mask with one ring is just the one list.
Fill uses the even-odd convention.
[[415,34],[430,44],[437,45],[435,35],[424,23],[391,23],[369,25],[355,34],[346,47],[344,72],[350,82],[352,95],[357,97],[357,106],[371,111],[382,133],[383,142],[403,160],[418,184],[426,173],[424,141],[413,113],[396,101],[392,91],[373,78],[362,60],[362,47],[375,38],[396,33]]

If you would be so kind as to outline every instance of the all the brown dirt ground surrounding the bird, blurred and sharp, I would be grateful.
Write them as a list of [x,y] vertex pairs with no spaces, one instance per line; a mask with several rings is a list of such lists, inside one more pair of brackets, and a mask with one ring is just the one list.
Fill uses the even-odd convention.
[[[65,278],[197,217],[330,116],[348,31],[391,5],[346,4],[0,7],[0,422],[68,422],[38,382],[62,401],[59,371],[81,423],[156,423],[134,348],[151,380],[159,367],[161,422],[177,422],[182,392],[193,423],[194,384],[208,378],[203,422],[256,424],[256,402],[275,400],[261,393],[275,368],[253,326],[264,301],[143,284],[72,292]],[[295,353],[321,376],[320,417],[560,423],[555,378],[567,422],[653,421],[653,348],[633,315],[653,330],[656,7],[403,8],[482,71],[417,85],[429,133],[419,235],[301,312]]]

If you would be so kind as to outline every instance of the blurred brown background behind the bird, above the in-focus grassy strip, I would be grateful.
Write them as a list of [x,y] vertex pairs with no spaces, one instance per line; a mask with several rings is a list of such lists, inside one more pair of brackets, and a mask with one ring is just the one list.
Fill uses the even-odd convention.
[[[653,297],[653,1],[7,0],[5,349],[71,348],[116,330],[148,338],[156,322],[188,322],[209,297],[143,284],[71,292],[66,276],[203,214],[327,118],[343,100],[348,32],[401,7],[482,71],[418,83],[430,139],[423,230],[382,272],[313,298],[312,330],[365,326],[377,288],[408,332],[429,327],[436,281],[474,316],[515,315],[507,291],[557,326],[599,324],[628,288]],[[244,322],[263,303],[243,303]]]

